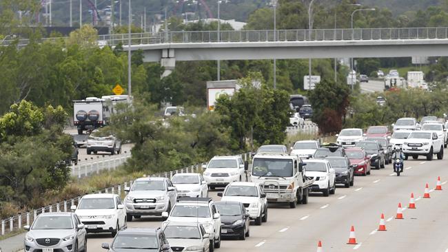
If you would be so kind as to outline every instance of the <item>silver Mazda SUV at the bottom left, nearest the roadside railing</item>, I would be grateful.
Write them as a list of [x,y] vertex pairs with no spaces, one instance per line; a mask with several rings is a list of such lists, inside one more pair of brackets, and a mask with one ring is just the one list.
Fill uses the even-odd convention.
[[87,232],[74,213],[41,213],[25,235],[25,251],[87,251]]

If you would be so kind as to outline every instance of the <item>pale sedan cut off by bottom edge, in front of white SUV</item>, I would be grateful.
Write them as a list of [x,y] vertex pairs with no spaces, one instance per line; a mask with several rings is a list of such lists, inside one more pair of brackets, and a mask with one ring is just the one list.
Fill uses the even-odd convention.
[[209,234],[196,222],[170,222],[163,229],[172,251],[210,251]]

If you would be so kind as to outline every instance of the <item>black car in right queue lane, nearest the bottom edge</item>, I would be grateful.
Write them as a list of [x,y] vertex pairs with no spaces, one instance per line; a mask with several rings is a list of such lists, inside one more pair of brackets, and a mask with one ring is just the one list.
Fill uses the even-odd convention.
[[221,235],[245,240],[249,237],[249,214],[241,202],[221,201],[214,203],[221,215]]

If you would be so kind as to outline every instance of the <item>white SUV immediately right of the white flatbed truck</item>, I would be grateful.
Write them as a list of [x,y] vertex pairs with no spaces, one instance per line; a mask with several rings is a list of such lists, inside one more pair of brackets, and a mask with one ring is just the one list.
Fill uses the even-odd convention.
[[336,191],[336,171],[328,160],[309,159],[306,161],[305,175],[314,178],[312,191],[322,192],[323,196],[334,194]]

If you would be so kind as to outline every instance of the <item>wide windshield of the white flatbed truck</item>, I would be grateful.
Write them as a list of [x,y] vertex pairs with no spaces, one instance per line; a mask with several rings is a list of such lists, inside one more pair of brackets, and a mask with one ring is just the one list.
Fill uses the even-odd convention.
[[254,158],[253,176],[292,177],[292,159]]

